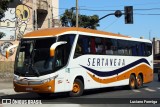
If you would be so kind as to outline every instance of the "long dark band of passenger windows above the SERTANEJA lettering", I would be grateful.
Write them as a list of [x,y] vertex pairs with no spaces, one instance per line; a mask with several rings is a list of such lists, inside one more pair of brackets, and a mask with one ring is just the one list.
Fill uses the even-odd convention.
[[152,45],[144,42],[79,35],[74,58],[84,54],[149,56]]

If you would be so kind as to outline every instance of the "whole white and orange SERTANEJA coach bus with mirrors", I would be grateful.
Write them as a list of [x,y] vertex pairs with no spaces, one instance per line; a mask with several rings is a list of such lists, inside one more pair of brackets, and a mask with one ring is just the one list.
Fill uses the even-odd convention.
[[76,27],[48,28],[27,33],[17,47],[14,90],[41,96],[128,86],[138,89],[153,80],[152,42]]

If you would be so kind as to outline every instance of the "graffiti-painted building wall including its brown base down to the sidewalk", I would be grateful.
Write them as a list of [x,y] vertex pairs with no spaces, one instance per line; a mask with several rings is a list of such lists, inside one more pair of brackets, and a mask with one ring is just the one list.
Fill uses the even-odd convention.
[[[5,17],[0,21],[0,81],[10,80],[13,77],[17,48],[12,49],[8,59],[5,58],[6,49],[11,45],[18,44],[24,34],[37,30],[34,24],[34,21],[37,21],[37,16],[34,11],[38,9],[37,2],[39,1],[47,2],[48,7],[45,10],[44,20],[40,20],[42,26],[38,29],[52,27],[52,18],[58,18],[55,17],[58,16],[58,9],[53,11],[52,7],[58,8],[58,0],[15,0],[9,5]],[[52,6],[53,2],[55,3]]]

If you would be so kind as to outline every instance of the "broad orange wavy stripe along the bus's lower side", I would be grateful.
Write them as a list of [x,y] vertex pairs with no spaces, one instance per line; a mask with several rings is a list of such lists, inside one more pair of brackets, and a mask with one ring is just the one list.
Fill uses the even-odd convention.
[[134,73],[136,75],[136,77],[138,76],[139,73],[142,73],[144,83],[151,82],[153,80],[153,70],[145,64],[141,64],[141,65],[139,65],[139,66],[137,66],[137,67],[121,74],[121,75],[113,77],[113,78],[101,79],[101,78],[95,77],[94,75],[92,75],[90,73],[88,73],[88,74],[94,81],[96,81],[98,83],[102,83],[102,84],[107,84],[107,83],[111,83],[111,82],[116,82],[116,81],[128,79],[132,73]]

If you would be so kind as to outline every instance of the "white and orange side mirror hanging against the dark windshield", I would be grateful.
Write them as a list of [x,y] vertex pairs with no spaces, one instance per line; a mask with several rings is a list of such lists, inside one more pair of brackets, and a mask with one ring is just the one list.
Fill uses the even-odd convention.
[[56,42],[56,43],[52,44],[50,47],[50,57],[54,57],[56,47],[63,45],[63,44],[66,44],[66,43],[67,43],[66,41],[61,41],[61,42]]

